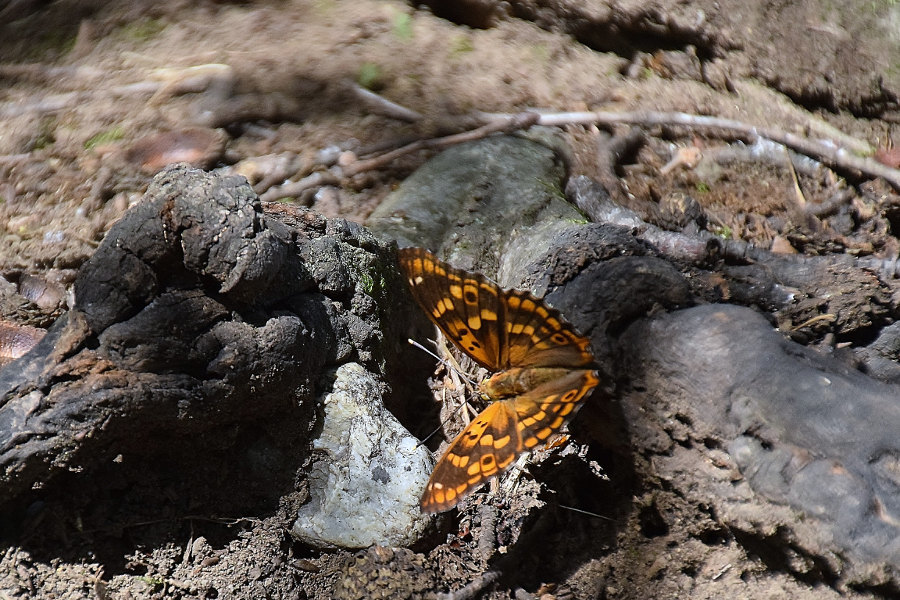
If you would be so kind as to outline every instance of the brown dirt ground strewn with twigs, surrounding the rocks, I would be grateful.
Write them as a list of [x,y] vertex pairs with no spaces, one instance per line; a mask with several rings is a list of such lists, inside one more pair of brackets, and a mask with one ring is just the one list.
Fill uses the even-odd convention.
[[[900,71],[891,29],[900,8],[891,2],[422,4],[430,7],[374,0],[0,6],[0,275],[18,286],[40,276],[65,289],[170,161],[227,165],[261,194],[272,190],[328,217],[364,222],[432,153],[353,174],[327,167],[456,132],[478,111],[679,111],[832,140],[863,156],[879,151],[881,163],[900,163],[892,150]],[[361,88],[417,115],[366,98]],[[626,126],[564,130],[571,173],[608,180],[598,147],[605,132],[622,134]],[[777,252],[893,258],[900,250],[892,234],[897,195],[883,180],[799,155],[789,165],[780,146],[727,143],[752,142],[746,132],[646,131],[635,155],[614,169],[613,196],[647,221],[679,227],[684,207],[696,202],[709,231]],[[314,173],[332,174],[295,193],[273,187]],[[42,328],[65,306],[63,295],[42,310],[0,316]],[[838,333],[825,343],[852,341]],[[462,588],[485,572],[478,532],[487,517],[480,513],[447,524],[449,537],[418,554],[354,556],[292,542],[288,500],[269,514],[83,531],[79,511],[91,497],[79,490],[72,512],[59,505],[46,538],[53,547],[42,545],[46,522],[4,543],[0,597],[366,597],[374,592],[345,580],[387,563],[403,565],[398,589],[412,595]],[[694,518],[670,520],[677,527],[662,535],[659,513],[693,513],[655,506],[650,495],[641,502],[618,539],[605,540],[606,556],[573,551],[531,577],[488,586],[484,597],[877,595],[772,570]],[[528,533],[523,526],[501,519],[498,539],[511,544]],[[602,531],[597,525],[582,535]],[[716,572],[707,571],[708,561],[698,567],[710,546],[717,547]],[[635,555],[621,556],[628,552]],[[658,558],[648,565],[637,553]],[[613,561],[602,559],[610,557],[627,570],[609,567]],[[572,563],[560,566],[565,559]],[[677,576],[663,579],[664,570]],[[442,573],[437,584],[427,575],[434,572]]]

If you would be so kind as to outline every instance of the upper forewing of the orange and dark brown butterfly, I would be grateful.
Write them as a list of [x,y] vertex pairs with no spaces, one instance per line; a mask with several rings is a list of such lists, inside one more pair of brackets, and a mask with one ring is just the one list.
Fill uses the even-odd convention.
[[413,298],[447,339],[484,368],[499,369],[501,290],[421,248],[399,255]]

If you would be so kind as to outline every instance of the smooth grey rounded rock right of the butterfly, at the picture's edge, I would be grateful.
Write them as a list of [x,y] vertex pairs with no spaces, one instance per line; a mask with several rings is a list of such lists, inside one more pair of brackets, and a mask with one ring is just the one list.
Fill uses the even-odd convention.
[[[626,400],[635,430],[653,428],[648,419],[686,417],[693,451],[727,448],[753,490],[751,500],[742,486],[723,494],[727,488],[696,478],[697,495],[710,494],[726,525],[766,539],[771,552],[785,549],[767,532],[790,531],[791,543],[822,557],[834,577],[898,576],[894,386],[800,347],[753,311],[728,305],[636,323],[621,348],[643,390]],[[836,564],[825,558],[835,556],[842,557]]]

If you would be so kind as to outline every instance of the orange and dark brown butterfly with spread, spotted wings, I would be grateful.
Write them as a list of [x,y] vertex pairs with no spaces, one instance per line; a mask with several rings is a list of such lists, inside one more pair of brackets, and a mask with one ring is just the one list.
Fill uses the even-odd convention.
[[422,494],[422,512],[444,512],[559,431],[600,380],[588,338],[543,300],[422,248],[401,249],[399,260],[444,336],[494,373],[479,384],[492,402],[456,436]]

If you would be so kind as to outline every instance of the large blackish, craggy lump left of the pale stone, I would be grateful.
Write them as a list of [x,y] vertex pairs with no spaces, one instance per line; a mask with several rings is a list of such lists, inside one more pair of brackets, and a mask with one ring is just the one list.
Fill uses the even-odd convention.
[[159,490],[138,502],[150,513],[171,486],[181,510],[276,504],[325,370],[354,360],[383,380],[405,351],[390,249],[320,221],[264,213],[243,178],[160,173],[79,271],[74,308],[0,370],[0,510],[97,478]]

